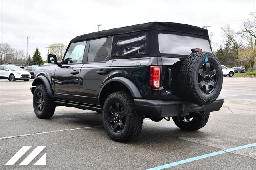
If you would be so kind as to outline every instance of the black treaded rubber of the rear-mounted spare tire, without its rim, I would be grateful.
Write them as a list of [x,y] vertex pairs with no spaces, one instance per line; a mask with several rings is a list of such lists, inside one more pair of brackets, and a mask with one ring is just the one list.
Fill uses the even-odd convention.
[[[206,61],[206,58],[208,61]],[[210,63],[216,70],[216,87],[209,93],[203,93],[198,85],[198,73],[199,69],[205,63]],[[223,73],[220,65],[220,61],[208,52],[196,52],[192,53],[186,59],[184,59],[179,73],[179,85],[182,93],[182,98],[192,103],[199,105],[206,105],[214,102],[220,94],[223,82]]]

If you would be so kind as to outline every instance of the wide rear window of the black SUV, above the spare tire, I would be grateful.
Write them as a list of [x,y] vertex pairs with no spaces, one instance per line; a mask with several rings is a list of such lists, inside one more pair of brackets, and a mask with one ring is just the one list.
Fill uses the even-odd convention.
[[209,41],[202,38],[158,34],[158,41],[160,53],[190,55],[193,48],[201,48],[202,51],[212,52]]

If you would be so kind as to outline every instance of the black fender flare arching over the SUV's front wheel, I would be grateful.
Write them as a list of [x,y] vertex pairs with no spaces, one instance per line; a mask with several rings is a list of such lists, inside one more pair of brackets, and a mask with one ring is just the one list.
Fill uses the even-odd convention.
[[37,76],[37,77],[34,79],[34,81],[33,81],[33,83],[32,83],[32,87],[30,87],[30,90],[31,90],[32,94],[34,94],[34,91],[35,91],[35,89],[36,89],[35,86],[38,85],[38,81],[42,81],[42,82],[44,83],[44,85],[45,85],[45,87],[46,87],[46,91],[47,91],[49,97],[52,98],[52,99],[54,99],[54,93],[53,93],[53,91],[52,91],[52,87],[51,87],[51,85],[50,85],[50,82],[49,82],[49,80],[48,80],[44,75],[39,75],[39,76]]

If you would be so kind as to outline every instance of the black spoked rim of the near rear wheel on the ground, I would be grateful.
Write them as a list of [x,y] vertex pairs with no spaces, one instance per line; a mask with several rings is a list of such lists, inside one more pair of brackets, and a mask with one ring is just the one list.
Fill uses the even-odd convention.
[[120,103],[112,103],[108,108],[108,123],[114,132],[121,132],[124,129],[126,116]]

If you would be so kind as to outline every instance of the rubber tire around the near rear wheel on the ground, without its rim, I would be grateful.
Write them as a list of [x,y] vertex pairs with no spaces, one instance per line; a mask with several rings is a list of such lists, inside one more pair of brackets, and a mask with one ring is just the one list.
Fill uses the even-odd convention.
[[[114,132],[108,123],[109,107],[111,103],[118,102],[125,111],[125,125],[122,131]],[[140,133],[143,125],[142,115],[138,113],[134,105],[134,99],[126,92],[118,91],[110,94],[103,106],[103,124],[108,136],[117,142],[134,140]]]

